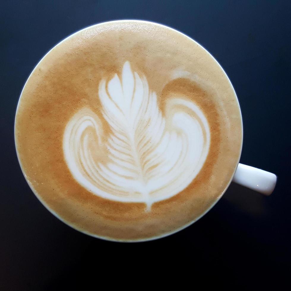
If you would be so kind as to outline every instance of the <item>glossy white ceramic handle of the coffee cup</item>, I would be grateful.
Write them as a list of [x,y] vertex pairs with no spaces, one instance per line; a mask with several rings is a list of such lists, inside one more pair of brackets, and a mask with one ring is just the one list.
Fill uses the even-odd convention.
[[270,195],[273,192],[276,181],[275,174],[243,164],[238,164],[233,176],[233,182],[264,195]]

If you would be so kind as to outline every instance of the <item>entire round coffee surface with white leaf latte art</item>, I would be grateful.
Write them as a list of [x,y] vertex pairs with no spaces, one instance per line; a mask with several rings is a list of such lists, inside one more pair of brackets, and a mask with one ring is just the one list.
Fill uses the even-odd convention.
[[173,233],[223,194],[241,152],[238,101],[200,45],[145,21],[101,23],[31,73],[15,144],[31,189],[70,226],[116,241]]

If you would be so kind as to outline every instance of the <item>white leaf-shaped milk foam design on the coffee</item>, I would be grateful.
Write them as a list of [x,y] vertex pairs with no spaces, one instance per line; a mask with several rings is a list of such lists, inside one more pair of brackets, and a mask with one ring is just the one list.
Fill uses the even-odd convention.
[[150,211],[197,176],[208,155],[210,130],[186,96],[167,99],[162,112],[147,79],[126,62],[121,78],[116,74],[100,82],[99,99],[104,119],[84,107],[64,132],[65,160],[83,187],[106,199],[145,203]]

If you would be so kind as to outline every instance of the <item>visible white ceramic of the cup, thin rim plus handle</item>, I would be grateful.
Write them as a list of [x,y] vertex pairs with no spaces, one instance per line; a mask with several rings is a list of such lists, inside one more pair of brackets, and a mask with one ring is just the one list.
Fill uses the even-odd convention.
[[[114,21],[110,21],[110,22],[119,22],[119,21],[136,21],[136,22],[149,22],[149,21],[143,21],[143,20],[114,20]],[[153,22],[150,22],[150,23],[153,23]],[[105,23],[99,23],[99,24],[96,24],[96,25],[93,25],[93,26],[98,26],[98,25],[103,25]],[[154,23],[156,25],[159,25],[159,26],[165,26],[165,25],[162,25],[162,24],[159,24],[159,23]],[[85,29],[81,29],[80,31],[83,31],[83,30],[86,30],[88,28],[91,28],[93,26],[89,26],[89,27],[86,27]],[[167,28],[171,29],[171,30],[174,30],[176,31],[177,33],[181,33],[180,31],[177,31],[173,28],[170,28],[168,26],[166,26]],[[79,33],[80,31],[77,31],[76,33],[70,35],[69,37],[65,38],[64,40],[62,40],[61,42],[59,42],[54,48],[56,48],[60,43],[62,42],[65,42],[67,39],[71,38],[73,35]],[[181,33],[183,34],[183,33]],[[186,36],[187,38],[191,39],[193,42],[195,42],[197,45],[200,45],[199,43],[197,43],[194,39],[188,37],[187,35],[183,34],[184,36]],[[203,46],[200,45],[202,48]],[[52,48],[52,50],[54,49]],[[205,48],[204,48],[205,49]],[[51,51],[51,50],[50,50]],[[47,53],[49,54],[50,51]],[[207,51],[207,50],[206,50]],[[208,52],[208,51],[207,51]],[[209,52],[208,52],[209,53]],[[46,54],[46,55],[47,55]],[[210,53],[209,53],[210,54]],[[45,56],[46,56],[45,55]],[[45,58],[45,56],[43,58]],[[210,56],[212,56],[210,54]],[[212,56],[213,57],[213,56]],[[42,58],[42,59],[43,59]],[[39,63],[42,61],[42,59],[39,61]],[[215,58],[213,58],[215,60]],[[33,69],[33,71],[31,72],[31,75],[33,74],[34,70],[38,67],[39,63],[36,65],[36,67]],[[217,62],[218,63],[218,62]],[[220,66],[221,67],[221,66]],[[224,72],[223,68],[221,67],[221,70]],[[225,72],[224,72],[225,73]],[[31,76],[30,75],[30,76]],[[225,73],[225,75],[227,76],[227,74]],[[30,78],[29,76],[29,78]],[[28,80],[29,80],[28,78]],[[26,81],[27,82],[27,81]],[[231,83],[231,82],[230,82]],[[25,88],[26,86],[26,83],[24,85],[23,88]],[[232,86],[233,88],[233,86]],[[233,88],[233,91],[235,92],[234,88]],[[22,92],[20,94],[20,98],[19,100],[21,99],[21,95],[22,95]],[[235,95],[236,96],[236,95]],[[18,105],[19,105],[19,101],[18,101]],[[17,106],[18,108],[18,106]],[[17,114],[17,111],[16,110],[16,114]],[[241,110],[240,110],[240,114],[241,114]],[[16,116],[15,116],[16,117]],[[241,119],[242,120],[242,119]],[[240,155],[241,155],[241,149],[240,149]],[[18,153],[17,153],[17,156],[18,156]],[[240,157],[239,157],[240,158]],[[239,159],[238,159],[239,160]],[[19,156],[18,156],[18,162],[20,163],[20,167],[21,167],[21,170],[23,172],[23,175],[26,177],[24,171],[23,171],[23,168],[21,166],[21,162],[19,160]],[[31,187],[29,181],[26,179],[26,181],[28,182],[29,186]],[[233,174],[233,177],[232,179],[230,179],[227,187],[225,188],[224,192],[227,190],[228,186],[230,185],[231,182],[235,182],[237,184],[240,184],[242,186],[245,186],[249,189],[252,189],[252,190],[255,190],[257,192],[260,192],[264,195],[270,195],[274,188],[275,188],[275,185],[276,185],[276,181],[277,181],[277,177],[275,174],[273,173],[270,173],[270,172],[267,172],[267,171],[264,171],[264,170],[261,170],[261,169],[258,169],[258,168],[254,168],[254,167],[251,167],[251,166],[247,166],[247,165],[243,165],[243,164],[240,164],[238,163],[238,167],[236,169],[236,171],[234,172]],[[34,192],[34,194],[37,196],[37,198],[40,200],[40,202],[53,214],[55,215],[58,219],[60,219],[61,221],[63,221],[64,223],[66,223],[63,219],[61,219],[57,213],[55,213],[52,209],[50,209],[40,198],[39,196],[37,195],[37,193],[35,193],[34,189],[31,187],[31,190]],[[224,194],[224,192],[222,194]],[[222,197],[222,194],[221,196],[219,197],[219,199]],[[137,239],[135,241],[132,241],[132,242],[141,242],[141,241],[150,241],[150,240],[154,240],[154,239],[158,239],[158,238],[163,238],[165,236],[168,236],[168,235],[171,235],[173,233],[177,233],[178,231],[180,230],[183,230],[184,228],[188,227],[189,225],[193,224],[194,222],[196,222],[198,219],[200,219],[202,216],[204,216],[218,201],[219,199],[217,199],[208,209],[206,209],[206,211],[199,217],[197,217],[194,221],[178,228],[177,230],[171,232],[171,233],[166,233],[166,234],[163,234],[163,235],[160,235],[160,236],[156,236],[156,237],[153,237],[153,238],[148,238],[148,239]],[[67,224],[67,223],[66,223]],[[73,227],[72,225],[68,224],[69,226]],[[83,233],[86,233],[85,231],[83,231]],[[90,233],[86,233],[88,235],[91,235]],[[105,239],[105,240],[110,240],[110,241],[115,241],[114,239],[109,239],[109,238],[104,238],[104,237],[99,237],[97,235],[91,235],[91,236],[94,236],[94,237],[97,237],[97,238],[101,238],[101,239]],[[130,241],[126,241],[126,242],[130,242]]]

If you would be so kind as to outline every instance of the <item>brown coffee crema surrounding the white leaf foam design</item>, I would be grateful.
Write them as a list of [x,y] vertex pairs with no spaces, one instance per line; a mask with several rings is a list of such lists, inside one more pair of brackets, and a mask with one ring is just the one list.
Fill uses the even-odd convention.
[[[203,168],[183,191],[154,203],[104,199],[72,176],[63,153],[65,127],[82,107],[100,114],[100,80],[120,75],[126,61],[145,75],[163,112],[181,94],[203,111],[211,132]],[[106,124],[106,122],[104,122]],[[110,133],[106,126],[105,134]],[[73,34],[31,73],[20,96],[15,143],[31,189],[62,221],[116,241],[162,237],[194,222],[223,194],[238,165],[242,122],[233,87],[215,59],[189,37],[154,23],[113,21]]]

